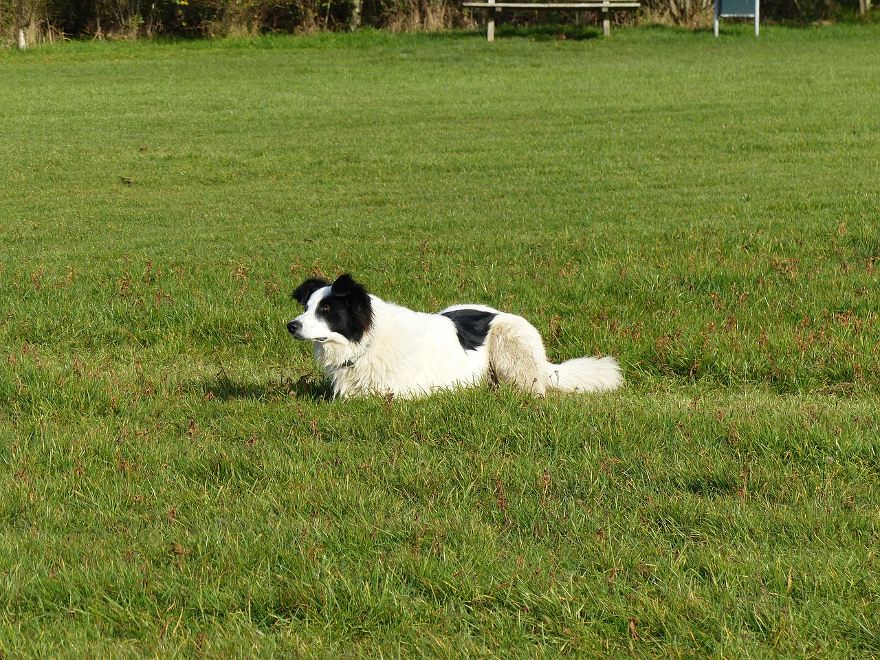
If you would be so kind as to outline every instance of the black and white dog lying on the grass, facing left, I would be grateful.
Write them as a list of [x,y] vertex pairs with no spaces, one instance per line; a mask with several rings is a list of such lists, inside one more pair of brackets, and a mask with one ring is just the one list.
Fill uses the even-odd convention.
[[413,312],[371,296],[341,275],[311,278],[293,292],[305,312],[287,324],[295,339],[314,342],[315,359],[337,397],[416,397],[478,385],[510,383],[524,392],[604,392],[620,387],[613,357],[549,363],[540,334],[520,316],[479,304],[437,314]]

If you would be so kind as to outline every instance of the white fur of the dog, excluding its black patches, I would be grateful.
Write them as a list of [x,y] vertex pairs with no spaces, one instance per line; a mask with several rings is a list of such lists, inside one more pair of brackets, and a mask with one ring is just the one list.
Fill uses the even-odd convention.
[[[425,314],[370,296],[372,326],[362,341],[354,343],[331,332],[315,315],[319,301],[329,292],[329,287],[315,291],[296,320],[302,327],[299,338],[314,342],[315,359],[337,397],[392,394],[409,398],[493,380],[538,395],[550,390],[606,392],[623,382],[613,357],[547,362],[544,344],[532,324],[478,304]],[[441,316],[460,309],[496,314],[480,348],[462,348],[455,324]]]

